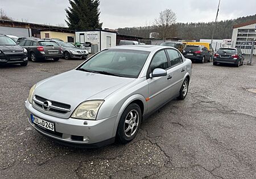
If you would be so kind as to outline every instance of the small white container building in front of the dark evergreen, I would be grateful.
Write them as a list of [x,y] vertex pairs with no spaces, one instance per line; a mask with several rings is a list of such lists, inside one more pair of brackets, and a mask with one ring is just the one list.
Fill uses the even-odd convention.
[[90,31],[76,31],[75,33],[75,42],[80,42],[82,45],[86,42],[97,44],[98,51],[116,46],[117,44],[117,33],[113,31],[97,29]]

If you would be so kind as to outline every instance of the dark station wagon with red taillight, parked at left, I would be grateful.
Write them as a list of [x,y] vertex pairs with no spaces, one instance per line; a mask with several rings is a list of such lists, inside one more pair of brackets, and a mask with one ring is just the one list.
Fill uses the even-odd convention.
[[25,39],[19,42],[19,45],[27,49],[28,59],[33,62],[47,58],[58,61],[63,56],[60,46],[55,41]]

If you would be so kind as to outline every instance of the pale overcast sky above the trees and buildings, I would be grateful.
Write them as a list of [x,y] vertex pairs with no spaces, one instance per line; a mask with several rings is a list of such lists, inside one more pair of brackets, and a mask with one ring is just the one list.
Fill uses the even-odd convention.
[[[65,24],[68,0],[0,0],[0,8],[15,20]],[[171,8],[177,22],[209,22],[216,16],[218,0],[101,0],[100,22],[104,28],[151,25],[159,12]],[[256,14],[256,0],[221,0],[218,20]],[[67,25],[67,24],[65,24]]]

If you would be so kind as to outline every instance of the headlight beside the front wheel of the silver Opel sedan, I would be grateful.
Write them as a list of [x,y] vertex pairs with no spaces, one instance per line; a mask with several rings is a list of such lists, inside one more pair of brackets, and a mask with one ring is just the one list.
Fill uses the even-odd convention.
[[72,114],[72,118],[80,120],[96,120],[98,109],[104,100],[85,101],[80,104]]

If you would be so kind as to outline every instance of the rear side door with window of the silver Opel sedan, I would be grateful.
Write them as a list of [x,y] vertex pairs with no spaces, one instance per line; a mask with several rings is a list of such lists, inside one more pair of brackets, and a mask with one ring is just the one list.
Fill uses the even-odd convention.
[[181,54],[175,49],[167,49],[168,59],[171,62],[170,72],[172,73],[172,78],[170,79],[170,96],[175,97],[179,94],[180,87],[183,83],[185,75],[185,67]]

